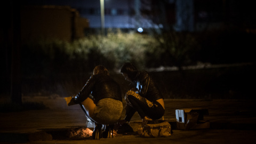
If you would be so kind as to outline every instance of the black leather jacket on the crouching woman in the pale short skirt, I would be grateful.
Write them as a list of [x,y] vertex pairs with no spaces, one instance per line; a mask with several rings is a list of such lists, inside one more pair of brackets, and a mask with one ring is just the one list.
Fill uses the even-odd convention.
[[92,94],[94,103],[104,98],[112,98],[122,102],[120,86],[106,74],[92,75],[83,89],[73,98],[75,103],[83,102]]

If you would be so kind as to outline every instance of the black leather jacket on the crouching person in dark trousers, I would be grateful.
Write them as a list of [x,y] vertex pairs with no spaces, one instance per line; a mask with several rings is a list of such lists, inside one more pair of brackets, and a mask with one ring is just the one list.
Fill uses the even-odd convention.
[[147,71],[139,71],[138,74],[132,78],[132,84],[138,90],[138,94],[149,101],[163,99],[163,95],[158,90],[155,82]]

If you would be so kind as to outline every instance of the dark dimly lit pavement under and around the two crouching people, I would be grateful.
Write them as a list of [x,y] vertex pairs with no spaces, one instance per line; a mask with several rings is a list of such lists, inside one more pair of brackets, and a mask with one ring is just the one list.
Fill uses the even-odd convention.
[[[254,143],[256,141],[255,100],[165,99],[164,119],[172,126],[170,137],[142,138],[138,114],[130,122],[133,132],[116,133],[114,138],[93,140],[91,127],[77,105],[67,106],[61,97],[23,97],[23,102],[40,102],[47,108],[0,113],[0,143]],[[125,106],[125,102],[123,102]],[[180,130],[176,109],[207,109],[207,129]],[[122,117],[124,117],[124,112]],[[90,130],[89,130],[90,129]],[[70,137],[78,131],[84,135]],[[86,133],[87,132],[87,133]]]

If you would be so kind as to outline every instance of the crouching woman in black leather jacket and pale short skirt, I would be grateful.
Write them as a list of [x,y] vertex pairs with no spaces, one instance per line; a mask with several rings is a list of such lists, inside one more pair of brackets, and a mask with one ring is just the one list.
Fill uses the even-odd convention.
[[[94,68],[83,89],[71,100],[81,106],[87,119],[94,122],[93,139],[110,137],[114,124],[121,118],[123,103],[119,85],[104,66]],[[105,129],[101,133],[102,124]]]

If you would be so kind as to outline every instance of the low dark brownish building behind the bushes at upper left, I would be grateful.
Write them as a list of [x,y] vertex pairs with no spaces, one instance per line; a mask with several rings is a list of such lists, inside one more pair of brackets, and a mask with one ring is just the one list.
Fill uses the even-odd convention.
[[70,6],[22,6],[21,38],[55,38],[73,41],[84,36],[89,21]]

